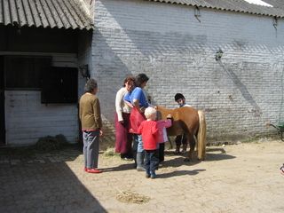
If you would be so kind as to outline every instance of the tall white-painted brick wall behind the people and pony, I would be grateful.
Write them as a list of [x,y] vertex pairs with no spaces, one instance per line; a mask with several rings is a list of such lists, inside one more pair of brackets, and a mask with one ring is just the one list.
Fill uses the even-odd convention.
[[284,22],[272,19],[201,8],[199,21],[190,6],[97,0],[91,72],[106,120],[124,76],[146,73],[154,104],[175,107],[182,92],[206,111],[209,138],[274,134],[265,122],[284,121]]

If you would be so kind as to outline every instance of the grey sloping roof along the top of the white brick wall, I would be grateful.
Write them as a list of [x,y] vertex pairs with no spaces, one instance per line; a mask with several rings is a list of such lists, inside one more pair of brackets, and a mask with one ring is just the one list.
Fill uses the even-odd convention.
[[284,17],[283,0],[262,0],[273,7],[249,4],[244,0],[148,0],[151,2],[162,2],[170,4],[185,4],[197,7],[205,7],[223,11],[245,12],[257,15]]

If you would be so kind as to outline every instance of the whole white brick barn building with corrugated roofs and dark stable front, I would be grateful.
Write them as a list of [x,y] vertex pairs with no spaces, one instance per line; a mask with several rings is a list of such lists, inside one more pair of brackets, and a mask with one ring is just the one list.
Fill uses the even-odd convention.
[[126,75],[206,113],[209,140],[270,136],[284,121],[280,0],[0,0],[0,143],[79,137],[78,98],[99,82],[106,136]]

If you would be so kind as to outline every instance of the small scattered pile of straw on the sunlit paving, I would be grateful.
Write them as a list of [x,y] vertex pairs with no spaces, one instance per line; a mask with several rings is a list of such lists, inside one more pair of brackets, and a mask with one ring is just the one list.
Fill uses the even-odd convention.
[[133,193],[130,191],[120,191],[116,194],[116,199],[121,202],[126,203],[137,203],[137,204],[143,204],[148,201],[150,201],[150,198],[139,193]]

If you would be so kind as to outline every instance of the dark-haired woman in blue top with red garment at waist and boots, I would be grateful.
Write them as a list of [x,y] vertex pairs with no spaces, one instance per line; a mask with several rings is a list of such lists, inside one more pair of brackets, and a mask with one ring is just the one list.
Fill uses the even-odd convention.
[[133,158],[138,171],[145,171],[144,168],[144,148],[142,137],[138,134],[140,123],[146,120],[144,111],[149,103],[143,91],[149,78],[145,74],[135,77],[135,89],[124,96],[124,101],[129,102],[133,107],[130,114],[130,132],[133,134]]

